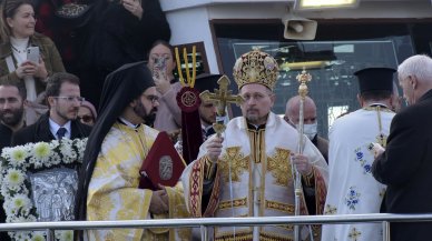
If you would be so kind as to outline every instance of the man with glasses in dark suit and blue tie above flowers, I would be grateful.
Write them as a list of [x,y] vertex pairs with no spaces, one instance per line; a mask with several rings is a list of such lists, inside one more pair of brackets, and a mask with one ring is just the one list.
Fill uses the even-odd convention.
[[12,137],[12,145],[89,135],[91,128],[77,120],[84,98],[76,76],[55,73],[48,80],[46,94],[49,112],[41,116],[36,123],[17,131]]

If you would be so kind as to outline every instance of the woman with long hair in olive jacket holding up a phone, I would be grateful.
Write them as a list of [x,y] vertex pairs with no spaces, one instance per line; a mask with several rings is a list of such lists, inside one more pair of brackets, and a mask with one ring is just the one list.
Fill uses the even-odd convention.
[[[35,10],[30,0],[3,0],[0,11],[0,83],[23,81],[27,99],[36,101],[53,72],[65,67],[53,42],[35,32]],[[29,47],[39,48],[39,60],[28,60]]]

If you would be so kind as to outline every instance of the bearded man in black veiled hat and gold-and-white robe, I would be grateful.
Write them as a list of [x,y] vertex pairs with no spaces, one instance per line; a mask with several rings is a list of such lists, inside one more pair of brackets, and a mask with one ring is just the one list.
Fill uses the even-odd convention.
[[[151,72],[143,62],[126,64],[107,77],[81,170],[81,220],[187,217],[179,187],[138,189],[139,169],[158,134],[143,123],[155,118],[157,107]],[[85,234],[90,241],[189,240],[185,229],[104,229]]]

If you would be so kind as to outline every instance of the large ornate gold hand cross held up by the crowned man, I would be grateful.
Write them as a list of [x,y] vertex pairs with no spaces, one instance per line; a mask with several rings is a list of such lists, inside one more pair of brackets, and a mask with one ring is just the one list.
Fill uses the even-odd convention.
[[215,89],[215,92],[212,93],[208,90],[202,92],[199,94],[199,98],[202,101],[214,101],[216,102],[217,107],[217,117],[216,117],[216,123],[213,124],[213,128],[215,129],[215,132],[220,135],[225,131],[225,124],[224,124],[224,117],[225,108],[228,103],[235,103],[240,104],[243,101],[243,98],[237,94],[233,94],[230,90],[228,90],[229,86],[229,79],[226,76],[220,77],[220,79],[217,81],[219,84],[219,89]]

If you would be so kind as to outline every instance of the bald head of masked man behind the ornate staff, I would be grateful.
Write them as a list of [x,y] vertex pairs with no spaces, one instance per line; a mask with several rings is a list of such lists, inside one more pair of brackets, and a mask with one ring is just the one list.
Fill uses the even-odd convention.
[[[294,124],[300,122],[300,101],[301,97],[296,96],[286,102],[285,117]],[[304,100],[304,123],[316,123],[316,106],[310,97],[306,97]]]

